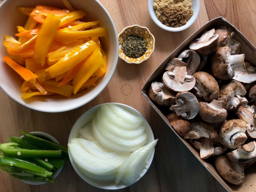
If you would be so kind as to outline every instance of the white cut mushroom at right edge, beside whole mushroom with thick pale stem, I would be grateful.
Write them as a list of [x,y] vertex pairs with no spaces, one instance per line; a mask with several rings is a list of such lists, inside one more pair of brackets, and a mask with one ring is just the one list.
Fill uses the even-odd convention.
[[256,81],[256,68],[248,62],[244,62],[243,67],[234,69],[233,79],[241,83],[253,83]]

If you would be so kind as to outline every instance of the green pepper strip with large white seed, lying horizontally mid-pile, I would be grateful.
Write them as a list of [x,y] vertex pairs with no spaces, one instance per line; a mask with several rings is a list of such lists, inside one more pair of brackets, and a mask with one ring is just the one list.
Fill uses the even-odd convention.
[[60,157],[61,150],[33,150],[33,149],[23,149],[14,148],[19,146],[17,143],[1,143],[0,151],[9,157]]

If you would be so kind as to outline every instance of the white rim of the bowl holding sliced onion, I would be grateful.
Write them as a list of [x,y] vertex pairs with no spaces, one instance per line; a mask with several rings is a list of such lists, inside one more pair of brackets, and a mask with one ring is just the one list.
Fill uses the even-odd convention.
[[[102,104],[99,104],[99,105],[96,105],[92,108],[90,108],[89,110],[87,110],[85,113],[83,113],[77,120],[76,122],[74,123],[71,131],[70,131],[70,134],[69,134],[69,139],[68,139],[68,143],[70,143],[71,139],[74,138],[74,137],[71,137],[72,136],[72,133],[74,131],[78,131],[78,129],[80,129],[81,127],[75,127],[76,124],[78,124],[81,119],[83,119],[84,117],[88,116],[88,113],[92,113],[90,116],[93,116],[95,114],[95,112],[97,111],[97,109],[101,106],[101,105],[106,105],[106,104],[110,104],[110,103],[102,103]],[[130,113],[132,114],[136,114],[138,116],[140,116],[142,119],[143,119],[143,123],[144,125],[147,126],[148,128],[148,132],[150,133],[150,136],[153,138],[152,141],[154,141],[154,134],[153,134],[153,131],[151,129],[151,126],[150,124],[147,122],[147,120],[144,118],[144,116],[136,109],[134,109],[133,107],[131,106],[128,106],[128,105],[125,105],[125,104],[122,104],[122,103],[111,103],[111,104],[115,104],[119,107],[124,107],[125,110],[128,110]],[[95,112],[94,112],[95,111]],[[94,112],[94,113],[93,113]],[[84,126],[84,125],[83,125]],[[147,158],[147,161],[148,161],[148,164],[147,166],[145,166],[143,168],[143,173],[141,173],[139,175],[139,177],[136,179],[136,181],[134,183],[136,183],[138,180],[140,180],[147,172],[147,170],[149,169],[149,167],[151,166],[152,164],[152,161],[153,161],[153,158],[154,158],[154,153],[155,153],[155,147],[153,149],[153,151],[151,152],[151,154],[148,156]],[[114,184],[114,181],[108,181],[108,182],[113,182],[113,184],[109,184],[108,186],[106,187],[102,187],[102,186],[98,186],[97,183],[98,182],[104,182],[104,181],[95,181],[93,179],[90,179],[90,178],[87,178],[86,175],[84,175],[84,173],[80,170],[80,168],[75,164],[75,162],[73,161],[72,157],[70,156],[70,153],[69,153],[69,159],[70,159],[70,162],[72,164],[72,167],[74,168],[75,172],[85,181],[87,182],[88,184],[94,186],[94,187],[97,187],[97,188],[100,188],[100,189],[108,189],[108,190],[117,190],[117,189],[123,189],[123,188],[126,188],[126,187],[129,187],[130,185],[125,185],[125,184]],[[89,179],[89,180],[88,180]],[[96,183],[96,184],[95,184]],[[133,184],[134,184],[133,183]],[[116,186],[115,186],[116,185]]]

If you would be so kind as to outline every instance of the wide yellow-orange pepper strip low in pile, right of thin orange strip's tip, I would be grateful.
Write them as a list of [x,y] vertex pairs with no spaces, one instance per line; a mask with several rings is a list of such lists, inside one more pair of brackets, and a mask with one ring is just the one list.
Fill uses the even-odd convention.
[[58,87],[59,82],[56,82],[55,80],[46,80],[40,84],[48,92],[57,93],[66,97],[71,97],[73,92],[73,85],[64,85],[62,87]]

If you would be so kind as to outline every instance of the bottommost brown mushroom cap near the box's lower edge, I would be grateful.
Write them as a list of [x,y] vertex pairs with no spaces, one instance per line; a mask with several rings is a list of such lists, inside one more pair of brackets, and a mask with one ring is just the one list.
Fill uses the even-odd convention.
[[215,167],[219,175],[232,184],[242,184],[245,180],[243,165],[230,161],[226,155],[216,157]]

